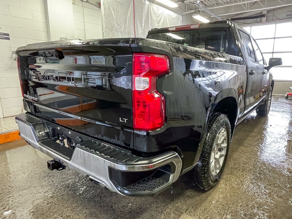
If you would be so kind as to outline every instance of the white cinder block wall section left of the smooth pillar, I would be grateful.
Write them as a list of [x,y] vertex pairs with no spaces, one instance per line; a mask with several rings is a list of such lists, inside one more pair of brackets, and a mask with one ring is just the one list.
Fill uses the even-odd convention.
[[0,0],[0,118],[22,112],[22,96],[15,55],[19,46],[48,41],[44,0]]

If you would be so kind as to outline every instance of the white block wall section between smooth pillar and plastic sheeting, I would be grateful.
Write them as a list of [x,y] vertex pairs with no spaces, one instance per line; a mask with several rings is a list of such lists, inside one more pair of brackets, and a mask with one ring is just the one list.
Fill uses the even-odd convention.
[[[91,1],[93,2],[93,1]],[[95,5],[98,3],[93,2]],[[100,9],[84,2],[84,15],[82,1],[73,0],[73,18],[76,39],[101,39],[102,25]],[[85,32],[84,32],[85,21]]]

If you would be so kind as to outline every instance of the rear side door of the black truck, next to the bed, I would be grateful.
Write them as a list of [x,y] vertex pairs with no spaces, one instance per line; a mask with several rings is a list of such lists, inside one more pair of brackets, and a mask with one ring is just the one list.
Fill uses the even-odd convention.
[[246,108],[245,114],[253,110],[263,97],[261,89],[263,78],[263,65],[258,63],[255,51],[252,46],[251,37],[239,29],[243,52],[247,64],[247,86],[246,86]]

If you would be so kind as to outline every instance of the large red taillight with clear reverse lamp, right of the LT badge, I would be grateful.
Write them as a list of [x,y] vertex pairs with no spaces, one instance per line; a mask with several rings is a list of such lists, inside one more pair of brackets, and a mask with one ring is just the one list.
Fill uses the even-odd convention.
[[156,90],[157,77],[170,71],[166,55],[133,54],[133,128],[151,131],[165,120],[164,96]]

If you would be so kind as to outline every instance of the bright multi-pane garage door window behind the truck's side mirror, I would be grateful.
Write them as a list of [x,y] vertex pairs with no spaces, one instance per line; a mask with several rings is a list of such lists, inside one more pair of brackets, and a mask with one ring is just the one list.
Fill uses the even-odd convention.
[[292,81],[292,22],[244,27],[244,29],[256,39],[267,63],[272,57],[282,58],[283,65],[271,69],[273,78]]

